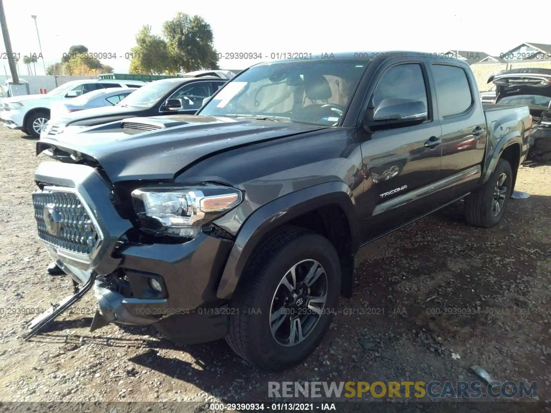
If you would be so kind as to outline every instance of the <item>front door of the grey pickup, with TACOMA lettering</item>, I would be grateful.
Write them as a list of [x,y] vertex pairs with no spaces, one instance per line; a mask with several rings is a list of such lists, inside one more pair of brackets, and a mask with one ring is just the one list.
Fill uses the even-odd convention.
[[425,195],[439,180],[442,131],[430,90],[422,61],[388,63],[377,80],[369,107],[383,99],[412,99],[423,101],[428,113],[425,121],[359,131],[365,177],[364,194],[358,199],[363,242],[434,208],[433,198]]

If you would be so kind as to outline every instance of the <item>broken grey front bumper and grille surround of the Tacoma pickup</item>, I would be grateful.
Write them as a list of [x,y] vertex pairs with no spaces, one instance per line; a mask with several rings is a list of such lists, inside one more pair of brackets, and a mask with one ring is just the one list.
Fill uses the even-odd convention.
[[[94,294],[110,322],[133,325],[158,323],[188,343],[220,338],[227,330],[227,312],[203,311],[225,305],[217,287],[233,242],[199,234],[180,244],[143,244],[125,241],[132,223],[121,218],[111,203],[111,189],[99,173],[85,165],[42,162],[35,172],[46,188],[69,188],[78,194],[98,233],[98,243],[84,256],[45,240],[51,257],[83,285],[96,274]],[[61,188],[61,189],[59,189]],[[40,211],[39,211],[40,212]],[[54,238],[55,241],[55,238]],[[161,292],[152,287],[161,285]],[[176,331],[168,319],[178,319]],[[187,326],[187,327],[186,327]],[[207,332],[207,330],[211,329]],[[181,341],[181,340],[180,340]]]

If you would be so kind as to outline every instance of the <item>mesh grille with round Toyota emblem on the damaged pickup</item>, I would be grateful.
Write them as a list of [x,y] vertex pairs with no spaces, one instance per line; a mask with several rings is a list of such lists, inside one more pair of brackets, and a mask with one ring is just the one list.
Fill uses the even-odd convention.
[[[33,194],[35,219],[42,241],[75,253],[90,255],[98,244],[98,232],[80,199],[71,192],[37,191]],[[47,208],[46,208],[47,207]],[[54,211],[57,231],[50,231],[45,209]]]

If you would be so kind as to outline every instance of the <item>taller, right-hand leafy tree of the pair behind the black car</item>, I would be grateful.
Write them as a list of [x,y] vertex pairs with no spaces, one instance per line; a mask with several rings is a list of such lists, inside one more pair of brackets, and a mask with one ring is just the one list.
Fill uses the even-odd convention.
[[214,35],[202,17],[177,13],[163,24],[163,35],[174,71],[191,72],[201,69],[218,69]]

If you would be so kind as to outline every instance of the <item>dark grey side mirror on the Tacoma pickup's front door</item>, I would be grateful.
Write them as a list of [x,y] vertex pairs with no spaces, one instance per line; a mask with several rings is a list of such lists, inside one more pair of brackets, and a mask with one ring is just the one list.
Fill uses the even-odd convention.
[[428,118],[425,102],[413,99],[383,99],[365,112],[364,126],[381,123],[419,122]]

